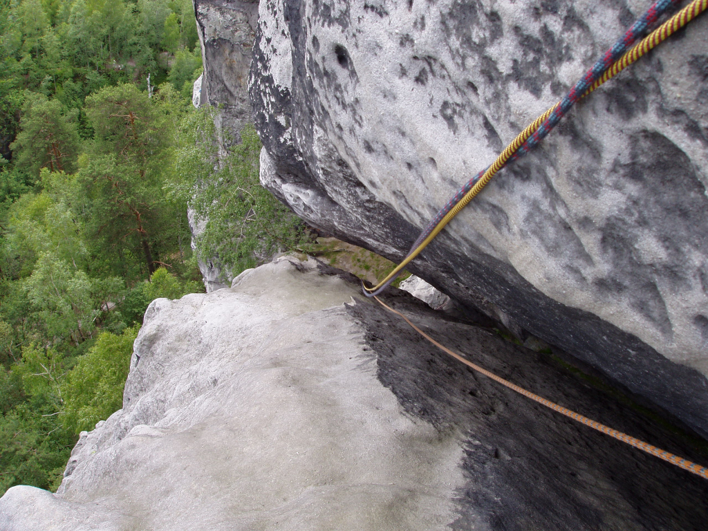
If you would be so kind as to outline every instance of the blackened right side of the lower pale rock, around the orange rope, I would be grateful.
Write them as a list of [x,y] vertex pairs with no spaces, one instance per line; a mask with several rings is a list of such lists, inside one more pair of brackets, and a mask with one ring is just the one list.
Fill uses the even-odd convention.
[[[588,387],[548,355],[446,319],[399,290],[384,301],[449,348],[532,392],[700,462],[702,456]],[[441,436],[462,433],[466,483],[452,530],[699,531],[708,484],[501,387],[424,341],[374,302],[348,305],[401,407]]]

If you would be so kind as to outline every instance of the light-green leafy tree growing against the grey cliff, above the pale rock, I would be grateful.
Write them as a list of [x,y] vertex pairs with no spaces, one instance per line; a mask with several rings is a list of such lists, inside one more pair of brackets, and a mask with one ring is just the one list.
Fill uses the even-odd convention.
[[[253,126],[244,127],[239,144],[219,144],[222,135],[215,130],[213,112],[191,113],[182,123],[174,154],[176,179],[169,189],[188,195],[195,215],[205,220],[196,239],[198,256],[217,257],[236,275],[277,251],[302,249],[307,238],[302,222],[258,180],[261,142]],[[227,156],[217,157],[219,149]]]

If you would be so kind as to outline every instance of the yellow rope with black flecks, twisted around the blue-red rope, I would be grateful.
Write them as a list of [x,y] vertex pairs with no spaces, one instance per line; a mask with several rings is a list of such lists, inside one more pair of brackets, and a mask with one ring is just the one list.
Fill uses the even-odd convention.
[[[600,77],[595,83],[593,83],[590,88],[583,93],[583,98],[588,96],[589,93],[594,91],[595,89],[598,88],[598,86],[602,85],[605,83],[605,81],[608,81],[609,79],[612,79],[614,76],[619,74],[619,72],[622,72],[623,69],[627,68],[630,64],[635,62],[639,57],[642,55],[645,55],[649,50],[651,50],[653,47],[656,47],[657,45],[661,44],[664,40],[666,40],[670,35],[675,33],[676,31],[680,30],[683,28],[687,23],[692,21],[694,18],[696,18],[700,13],[705,11],[708,8],[708,0],[693,0],[690,4],[688,4],[685,8],[683,8],[681,11],[676,13],[674,16],[672,16],[668,21],[663,23],[659,28],[654,30],[652,33],[650,33],[646,38],[642,39],[636,46],[632,48],[632,50],[629,50],[629,52],[625,53],[622,57],[617,59],[617,61],[612,64],[612,66],[607,69],[607,72],[603,74],[603,76]],[[560,103],[560,102],[559,102]],[[559,103],[556,103],[552,108],[549,108],[545,113],[540,115],[531,125],[526,127],[523,132],[518,135],[515,139],[513,139],[513,142],[511,142],[506,149],[499,155],[494,161],[494,163],[489,166],[489,168],[484,172],[484,175],[477,181],[477,183],[472,187],[469,192],[467,192],[462,200],[460,200],[455,207],[450,210],[450,212],[447,212],[447,215],[442,218],[440,222],[435,226],[432,232],[424,239],[421,244],[419,244],[416,249],[413,249],[408,256],[399,263],[399,265],[396,266],[394,270],[392,270],[389,275],[387,275],[384,280],[379,282],[375,287],[365,287],[364,289],[367,292],[376,292],[379,290],[379,288],[383,287],[384,285],[387,285],[387,282],[390,280],[396,278],[396,276],[401,273],[401,270],[403,270],[406,265],[408,265],[413,258],[416,258],[423,249],[430,244],[433,239],[435,239],[435,236],[438,236],[440,231],[445,228],[445,226],[450,223],[453,217],[455,217],[460,210],[462,210],[464,207],[467,206],[467,204],[474,198],[475,195],[477,195],[482,188],[486,186],[487,183],[491,180],[491,178],[506,164],[508,159],[517,151],[517,149],[524,143],[526,140],[535,132],[535,130],[538,129],[539,125],[541,125],[550,115],[551,113],[556,109],[556,107],[559,105]]]

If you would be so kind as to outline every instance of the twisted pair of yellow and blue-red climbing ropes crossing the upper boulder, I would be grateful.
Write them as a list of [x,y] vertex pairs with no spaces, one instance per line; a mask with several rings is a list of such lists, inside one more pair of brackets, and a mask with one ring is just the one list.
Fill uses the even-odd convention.
[[649,10],[644,13],[644,16],[639,18],[622,38],[615,42],[615,45],[613,45],[610,50],[605,52],[605,55],[586,72],[561,101],[556,103],[552,108],[549,108],[549,110],[532,122],[531,125],[526,127],[526,129],[504,149],[491,166],[484,171],[480,171],[458,190],[452,199],[447,202],[445,207],[442,207],[438,214],[430,221],[428,227],[421,232],[421,235],[418,236],[418,239],[416,239],[413,246],[411,246],[411,250],[408,255],[406,255],[406,258],[404,258],[404,261],[399,263],[399,265],[375,287],[369,288],[364,286],[364,295],[373,297],[385,290],[391,282],[398,277],[401,270],[403,270],[413,258],[416,258],[416,256],[430,244],[430,241],[435,239],[435,236],[438,236],[440,231],[450,223],[452,218],[467,206],[472,198],[489,183],[491,178],[501,170],[508,161],[518,159],[537,145],[538,142],[548,135],[574,103],[588,96],[589,93],[593,92],[598,86],[605,83],[605,81],[612,79],[612,77],[619,74],[619,72],[622,72],[623,69],[635,62],[639,57],[645,55],[653,47],[661,44],[661,42],[666,40],[670,35],[683,28],[687,23],[708,8],[708,0],[693,0],[689,5],[666,21],[666,23],[663,23],[650,35],[641,40],[632,50],[625,52],[625,50],[632,46],[641,34],[644,33],[646,28],[655,23],[669,8],[675,7],[679,3],[680,0],[657,0],[654,2]]

